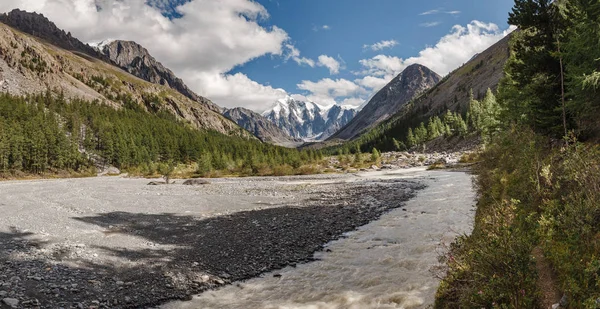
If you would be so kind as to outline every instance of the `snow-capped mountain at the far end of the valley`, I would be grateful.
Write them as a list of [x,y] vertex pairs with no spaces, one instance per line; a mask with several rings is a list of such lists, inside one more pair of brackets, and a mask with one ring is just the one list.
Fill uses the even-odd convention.
[[321,106],[292,97],[277,100],[262,115],[291,137],[322,140],[346,125],[357,111],[346,106]]

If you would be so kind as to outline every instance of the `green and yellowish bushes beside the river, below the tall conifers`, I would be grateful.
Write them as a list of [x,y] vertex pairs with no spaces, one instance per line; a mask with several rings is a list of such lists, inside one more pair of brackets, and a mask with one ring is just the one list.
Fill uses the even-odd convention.
[[569,308],[600,298],[600,147],[513,128],[481,154],[474,231],[444,255],[435,308],[538,308],[540,246]]

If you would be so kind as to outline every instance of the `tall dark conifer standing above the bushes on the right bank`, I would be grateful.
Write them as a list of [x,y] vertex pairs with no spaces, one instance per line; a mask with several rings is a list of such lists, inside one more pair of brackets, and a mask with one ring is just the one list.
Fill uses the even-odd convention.
[[508,22],[519,31],[513,34],[501,83],[506,118],[536,132],[562,136],[560,14],[551,0],[516,0]]

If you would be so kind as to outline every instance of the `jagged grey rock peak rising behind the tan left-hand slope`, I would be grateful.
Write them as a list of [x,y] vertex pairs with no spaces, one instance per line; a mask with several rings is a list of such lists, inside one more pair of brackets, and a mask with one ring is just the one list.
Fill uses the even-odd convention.
[[137,76],[154,84],[164,85],[175,89],[193,101],[201,103],[221,113],[222,109],[210,100],[201,97],[190,90],[183,80],[158,62],[146,48],[132,41],[112,41],[104,45],[100,51],[112,62],[131,75]]

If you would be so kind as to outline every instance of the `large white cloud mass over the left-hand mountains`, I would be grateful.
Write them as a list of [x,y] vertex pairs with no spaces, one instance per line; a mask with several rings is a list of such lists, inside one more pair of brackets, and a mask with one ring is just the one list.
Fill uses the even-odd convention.
[[[97,10],[96,5],[102,9]],[[269,14],[255,1],[193,0],[179,6],[182,17],[173,20],[146,5],[146,0],[0,2],[0,11],[17,7],[43,13],[84,42],[107,38],[136,41],[194,91],[223,106],[251,107],[259,97],[270,102],[281,93],[245,75],[225,74],[257,57],[283,56],[286,51],[288,34],[276,26],[260,25]],[[309,60],[299,58],[296,62],[310,65]]]

